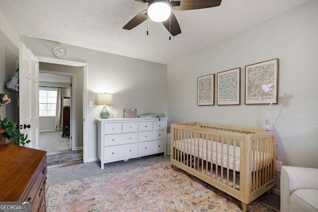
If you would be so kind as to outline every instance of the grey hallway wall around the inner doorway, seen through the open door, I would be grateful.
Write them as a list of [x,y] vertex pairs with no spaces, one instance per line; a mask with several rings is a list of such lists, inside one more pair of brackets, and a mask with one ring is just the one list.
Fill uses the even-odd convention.
[[[32,51],[32,50],[31,50]],[[33,52],[34,53],[34,52]],[[57,72],[65,72],[65,73],[74,73],[75,76],[75,96],[76,98],[73,101],[73,108],[74,108],[74,123],[72,125],[74,128],[72,129],[72,140],[75,141],[75,147],[83,146],[83,68],[82,67],[73,67],[73,66],[63,66],[57,64],[48,64],[48,63],[40,63],[39,66],[40,70],[46,71],[57,71]],[[41,82],[40,85],[46,84],[45,82]],[[52,85],[52,83],[50,83]],[[48,86],[46,84],[46,86]],[[47,120],[48,121],[48,120]]]

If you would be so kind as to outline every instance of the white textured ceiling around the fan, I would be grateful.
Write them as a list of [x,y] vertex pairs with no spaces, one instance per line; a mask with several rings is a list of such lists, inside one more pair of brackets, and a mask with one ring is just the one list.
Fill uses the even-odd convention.
[[[199,0],[198,0],[199,1]],[[169,64],[309,0],[223,0],[213,8],[174,10],[182,33],[161,23],[122,27],[147,3],[136,0],[0,0],[20,35]]]

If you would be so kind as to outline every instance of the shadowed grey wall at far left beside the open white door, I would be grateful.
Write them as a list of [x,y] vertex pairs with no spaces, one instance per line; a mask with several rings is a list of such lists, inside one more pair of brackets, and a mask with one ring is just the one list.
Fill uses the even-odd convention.
[[18,95],[16,92],[11,92],[5,88],[5,83],[8,82],[15,73],[16,61],[19,58],[19,49],[12,41],[0,31],[0,93],[5,93],[11,98],[11,102],[0,107],[2,110],[1,119],[12,116],[9,121],[18,123],[17,102]]

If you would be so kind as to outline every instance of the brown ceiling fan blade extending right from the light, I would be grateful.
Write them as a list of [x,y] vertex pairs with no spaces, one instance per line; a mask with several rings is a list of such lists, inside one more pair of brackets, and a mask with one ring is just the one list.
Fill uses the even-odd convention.
[[[222,0],[179,0],[180,6],[172,6],[175,10],[203,9],[220,6]],[[173,1],[172,1],[173,2]]]

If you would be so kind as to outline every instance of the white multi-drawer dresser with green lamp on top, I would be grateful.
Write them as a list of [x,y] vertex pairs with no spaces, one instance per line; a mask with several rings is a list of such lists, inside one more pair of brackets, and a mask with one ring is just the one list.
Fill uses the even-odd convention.
[[97,120],[97,156],[104,164],[166,151],[168,118]]

